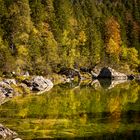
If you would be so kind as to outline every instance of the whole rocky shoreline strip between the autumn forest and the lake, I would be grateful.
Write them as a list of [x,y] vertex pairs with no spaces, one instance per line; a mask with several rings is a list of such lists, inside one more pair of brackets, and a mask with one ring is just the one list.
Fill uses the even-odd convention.
[[[58,72],[57,75],[59,75],[59,79],[61,79],[60,82],[71,82],[75,79],[77,79],[77,81],[84,81],[86,79],[93,81],[95,79],[99,80],[106,78],[113,81],[133,79],[140,81],[140,75],[124,74],[110,67],[103,67],[100,70],[88,68],[80,68],[79,70],[63,68]],[[49,91],[53,87],[54,83],[55,77],[45,78],[43,76],[30,76],[29,74],[18,76],[12,79],[1,78],[0,104],[3,104],[13,96],[19,96],[22,92],[41,94],[43,92]]]

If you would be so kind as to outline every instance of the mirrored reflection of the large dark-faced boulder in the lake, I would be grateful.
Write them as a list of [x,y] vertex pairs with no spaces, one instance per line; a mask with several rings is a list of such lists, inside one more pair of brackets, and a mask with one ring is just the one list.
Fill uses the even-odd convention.
[[99,79],[92,81],[91,85],[97,88],[104,88],[104,89],[111,89],[114,88],[116,85],[122,84],[127,82],[127,80],[111,80],[111,79]]

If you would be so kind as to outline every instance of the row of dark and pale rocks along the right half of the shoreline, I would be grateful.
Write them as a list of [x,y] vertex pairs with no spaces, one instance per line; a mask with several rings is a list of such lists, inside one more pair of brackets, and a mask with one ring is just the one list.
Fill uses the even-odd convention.
[[[89,73],[92,79],[104,79],[109,78],[113,80],[133,80],[133,79],[140,79],[138,76],[135,75],[127,75],[121,72],[118,72],[111,67],[103,67],[100,70],[88,69],[86,67],[80,68],[78,71],[77,69],[70,69],[70,68],[63,68],[60,70],[58,74],[65,75],[67,79],[73,80],[75,76],[78,76],[80,80],[85,79],[82,73]],[[66,80],[66,81],[70,81]]]

